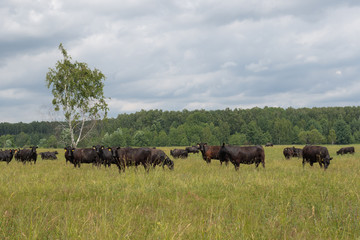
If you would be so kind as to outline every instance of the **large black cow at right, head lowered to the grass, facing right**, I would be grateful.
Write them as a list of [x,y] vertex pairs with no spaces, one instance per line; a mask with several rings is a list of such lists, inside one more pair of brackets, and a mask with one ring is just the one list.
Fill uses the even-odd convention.
[[330,157],[326,147],[308,145],[303,148],[303,167],[306,162],[310,163],[310,166],[318,162],[321,168],[324,164],[324,170],[326,170],[330,165],[331,159],[332,157]]

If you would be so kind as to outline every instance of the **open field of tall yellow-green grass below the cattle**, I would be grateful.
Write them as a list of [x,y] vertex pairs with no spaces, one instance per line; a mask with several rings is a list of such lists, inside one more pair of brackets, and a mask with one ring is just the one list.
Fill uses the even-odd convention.
[[359,238],[360,153],[337,156],[341,146],[327,146],[334,160],[324,171],[285,160],[284,147],[265,148],[265,169],[239,171],[207,165],[200,154],[174,160],[174,171],[125,174],[116,166],[75,169],[62,149],[56,161],[1,162],[0,238]]

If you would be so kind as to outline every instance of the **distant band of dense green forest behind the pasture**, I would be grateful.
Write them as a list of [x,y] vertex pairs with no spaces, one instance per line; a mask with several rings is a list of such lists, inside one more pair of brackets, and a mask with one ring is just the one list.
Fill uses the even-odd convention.
[[[142,110],[98,121],[78,147],[360,143],[360,107]],[[58,122],[0,123],[0,147],[62,148]]]

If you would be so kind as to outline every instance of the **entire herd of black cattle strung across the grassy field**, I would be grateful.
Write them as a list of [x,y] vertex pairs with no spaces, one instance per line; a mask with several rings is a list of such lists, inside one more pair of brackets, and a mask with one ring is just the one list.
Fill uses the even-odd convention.
[[[272,144],[266,144],[266,147],[272,147]],[[15,160],[26,163],[34,162],[37,160],[37,147],[30,147],[24,149],[10,149],[0,150],[0,161],[9,163],[13,158]],[[132,147],[104,147],[100,145],[93,146],[92,148],[72,148],[65,147],[66,163],[70,162],[74,167],[80,167],[81,164],[91,163],[96,166],[110,166],[115,164],[119,171],[125,171],[129,166],[144,166],[145,170],[157,165],[168,166],[169,169],[174,169],[174,162],[165,154],[164,151],[156,148],[132,148]],[[235,169],[238,170],[240,164],[255,164],[256,167],[261,163],[265,168],[265,153],[264,148],[258,146],[209,146],[207,143],[198,143],[196,146],[187,147],[185,149],[170,150],[170,155],[174,158],[187,158],[189,153],[201,152],[203,159],[210,163],[211,159],[217,159],[222,164],[231,162]],[[341,148],[336,152],[339,154],[355,153],[354,147]],[[41,158],[57,159],[58,152],[42,152]],[[314,163],[319,163],[320,167],[326,170],[333,159],[329,155],[326,147],[306,145],[303,149],[295,147],[287,147],[283,150],[284,157],[290,159],[291,157],[302,157],[303,167],[305,163],[313,166]]]

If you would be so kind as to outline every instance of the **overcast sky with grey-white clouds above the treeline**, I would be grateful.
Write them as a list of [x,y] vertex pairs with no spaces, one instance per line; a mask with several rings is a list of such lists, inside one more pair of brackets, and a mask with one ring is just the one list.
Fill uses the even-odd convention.
[[141,109],[360,105],[358,0],[2,0],[0,122],[48,121],[62,59]]

